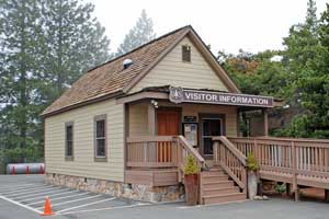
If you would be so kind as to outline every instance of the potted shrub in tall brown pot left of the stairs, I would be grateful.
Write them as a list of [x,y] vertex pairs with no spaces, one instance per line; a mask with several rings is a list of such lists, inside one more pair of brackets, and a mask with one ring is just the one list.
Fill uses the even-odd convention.
[[188,155],[184,166],[184,186],[188,205],[196,205],[198,195],[198,166],[191,154]]

